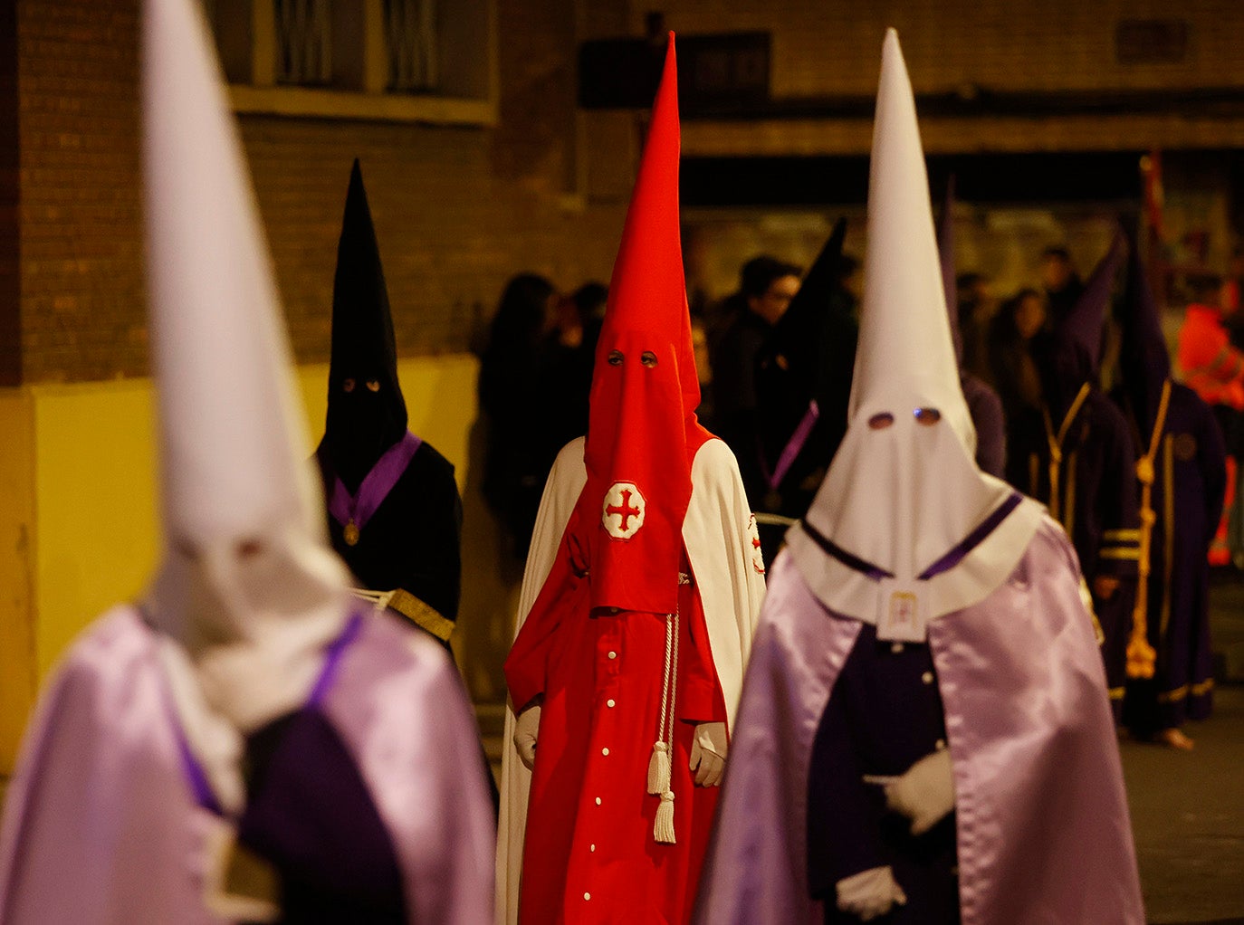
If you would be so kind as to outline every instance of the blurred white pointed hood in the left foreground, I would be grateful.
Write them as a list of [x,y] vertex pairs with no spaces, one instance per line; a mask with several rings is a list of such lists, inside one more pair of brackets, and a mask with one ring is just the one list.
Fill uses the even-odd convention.
[[[347,614],[323,537],[267,245],[199,4],[143,5],[143,168],[164,559],[146,602],[203,711],[300,705]],[[182,679],[185,680],[184,678]]]

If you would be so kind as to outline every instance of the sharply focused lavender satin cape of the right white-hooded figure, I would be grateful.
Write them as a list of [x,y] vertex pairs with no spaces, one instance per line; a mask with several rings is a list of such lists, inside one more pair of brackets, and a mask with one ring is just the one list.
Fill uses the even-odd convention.
[[[860,632],[781,555],[751,649],[695,921],[821,923],[812,741]],[[1136,854],[1075,552],[1049,518],[1010,579],[929,625],[954,763],[963,925],[1141,925]]]

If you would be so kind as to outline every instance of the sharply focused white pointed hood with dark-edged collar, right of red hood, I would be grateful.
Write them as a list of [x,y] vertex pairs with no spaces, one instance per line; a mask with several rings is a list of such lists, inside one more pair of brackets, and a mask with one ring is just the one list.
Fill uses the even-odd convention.
[[[947,322],[916,103],[898,35],[889,30],[873,124],[850,424],[807,527],[787,535],[800,572],[827,607],[876,623],[897,584],[933,619],[984,599],[1006,579],[1040,522],[1035,502],[1020,504],[986,538],[949,559],[953,566],[922,577],[1013,495],[977,467],[975,444]],[[861,562],[852,567],[852,558]],[[861,564],[888,576],[881,581]]]

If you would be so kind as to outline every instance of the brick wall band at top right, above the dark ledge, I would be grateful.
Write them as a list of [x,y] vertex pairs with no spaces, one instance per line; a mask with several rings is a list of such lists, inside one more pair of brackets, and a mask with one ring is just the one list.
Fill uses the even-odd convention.
[[[775,96],[873,93],[881,40],[898,30],[917,92],[1244,86],[1235,0],[666,0],[674,30],[773,31]],[[1120,19],[1186,20],[1181,63],[1118,65]],[[642,25],[636,11],[632,27]]]

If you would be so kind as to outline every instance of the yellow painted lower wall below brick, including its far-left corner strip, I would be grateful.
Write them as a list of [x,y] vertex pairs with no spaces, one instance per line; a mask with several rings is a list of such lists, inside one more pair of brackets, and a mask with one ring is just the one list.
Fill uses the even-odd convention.
[[[315,439],[327,372],[299,370]],[[476,361],[407,359],[398,372],[411,429],[455,465],[465,489]],[[92,619],[139,594],[157,564],[153,398],[149,379],[0,392],[0,775],[12,766],[36,678]]]

